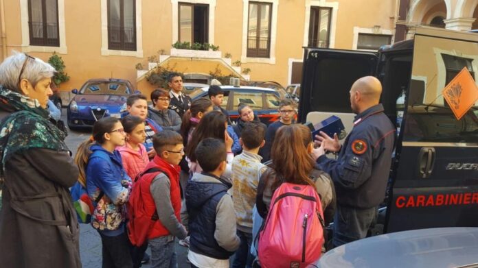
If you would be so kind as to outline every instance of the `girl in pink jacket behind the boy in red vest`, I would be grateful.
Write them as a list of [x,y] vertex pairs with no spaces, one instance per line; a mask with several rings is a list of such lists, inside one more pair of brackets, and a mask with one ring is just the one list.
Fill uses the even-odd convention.
[[144,132],[144,120],[128,115],[121,119],[121,123],[126,132],[126,143],[124,146],[117,147],[120,151],[123,167],[131,180],[135,182],[136,176],[144,171],[148,165],[149,158],[146,147],[143,143],[146,140],[146,132]]

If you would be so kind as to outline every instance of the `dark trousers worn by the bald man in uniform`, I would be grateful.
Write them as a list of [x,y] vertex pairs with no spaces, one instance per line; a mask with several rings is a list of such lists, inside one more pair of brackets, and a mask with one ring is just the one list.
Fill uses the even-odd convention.
[[337,205],[334,216],[334,247],[363,239],[376,219],[377,208],[350,208]]

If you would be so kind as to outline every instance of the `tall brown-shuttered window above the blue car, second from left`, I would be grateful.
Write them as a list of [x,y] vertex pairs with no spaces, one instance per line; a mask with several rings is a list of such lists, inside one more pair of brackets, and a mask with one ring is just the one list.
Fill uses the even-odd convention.
[[136,51],[135,0],[108,1],[108,49]]

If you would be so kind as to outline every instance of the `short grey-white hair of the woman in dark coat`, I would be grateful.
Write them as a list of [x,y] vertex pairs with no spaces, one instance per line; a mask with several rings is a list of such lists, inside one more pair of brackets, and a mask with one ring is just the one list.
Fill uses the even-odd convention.
[[25,69],[23,69],[20,79],[28,80],[32,86],[36,86],[36,83],[44,78],[53,77],[56,72],[52,65],[39,58],[32,60],[25,53],[13,51],[13,55],[3,60],[0,64],[0,84],[3,87],[21,93],[19,75],[25,60],[28,62],[25,64]]

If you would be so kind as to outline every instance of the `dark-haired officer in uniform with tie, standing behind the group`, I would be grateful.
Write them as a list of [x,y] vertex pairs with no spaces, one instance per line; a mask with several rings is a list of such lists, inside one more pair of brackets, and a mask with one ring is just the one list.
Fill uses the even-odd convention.
[[171,89],[169,108],[176,111],[182,119],[183,114],[191,107],[191,97],[182,93],[183,77],[179,73],[170,73],[168,86]]

